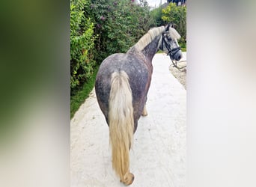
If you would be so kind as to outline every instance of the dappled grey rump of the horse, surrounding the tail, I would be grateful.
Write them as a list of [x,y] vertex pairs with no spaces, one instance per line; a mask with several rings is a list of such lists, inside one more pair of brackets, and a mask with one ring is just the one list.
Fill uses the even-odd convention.
[[[114,54],[106,58],[100,65],[95,83],[97,99],[103,114],[108,122],[109,93],[112,73],[124,71],[129,77],[129,86],[132,90],[132,107],[134,120],[137,121],[146,102],[147,91],[150,86],[152,69],[144,64],[143,59],[132,54]],[[136,125],[136,124],[135,124]],[[136,129],[137,126],[135,126]]]

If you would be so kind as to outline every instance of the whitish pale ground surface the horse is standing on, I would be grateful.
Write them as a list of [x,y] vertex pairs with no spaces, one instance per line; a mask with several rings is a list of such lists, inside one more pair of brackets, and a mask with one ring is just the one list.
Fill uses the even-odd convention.
[[[186,90],[171,75],[164,54],[153,58],[147,117],[138,120],[130,151],[130,186],[185,186]],[[70,123],[70,186],[124,186],[112,170],[109,127],[95,91]]]

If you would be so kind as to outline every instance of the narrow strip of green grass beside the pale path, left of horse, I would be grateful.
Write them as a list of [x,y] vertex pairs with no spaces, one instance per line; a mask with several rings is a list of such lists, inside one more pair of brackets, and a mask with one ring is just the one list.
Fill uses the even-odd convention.
[[80,88],[78,91],[73,93],[72,96],[70,96],[70,119],[72,119],[76,111],[79,109],[80,105],[82,105],[82,103],[85,102],[85,99],[88,98],[89,93],[94,88],[98,70],[99,67],[95,67],[94,73],[91,76],[91,78],[88,79],[88,81],[85,82],[84,85],[82,85],[82,88]]

